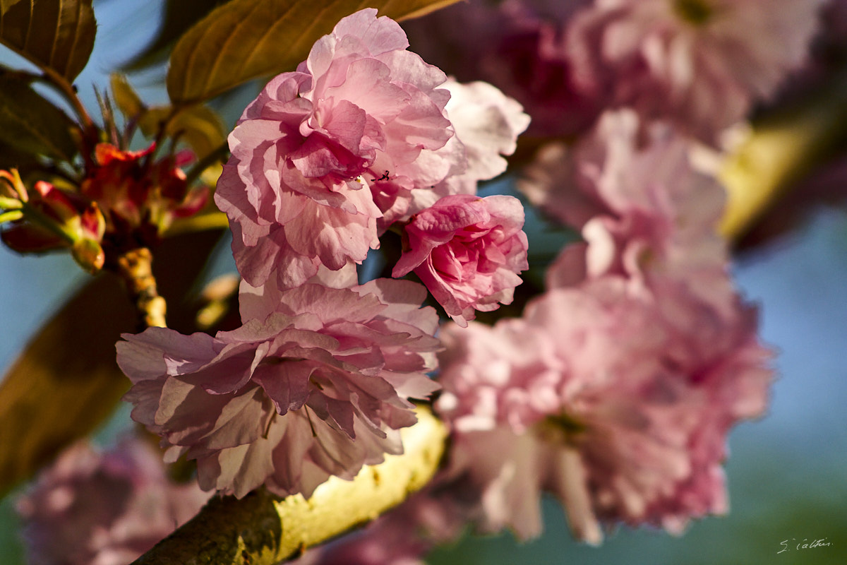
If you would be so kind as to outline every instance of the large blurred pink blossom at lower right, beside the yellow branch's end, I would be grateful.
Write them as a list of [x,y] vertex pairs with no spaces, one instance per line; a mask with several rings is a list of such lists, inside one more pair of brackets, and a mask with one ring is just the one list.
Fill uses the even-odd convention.
[[727,319],[666,292],[653,302],[607,276],[548,291],[520,320],[444,330],[436,408],[481,529],[539,535],[542,491],[592,543],[603,523],[679,532],[726,511],[726,435],[764,411],[771,353],[750,308]]

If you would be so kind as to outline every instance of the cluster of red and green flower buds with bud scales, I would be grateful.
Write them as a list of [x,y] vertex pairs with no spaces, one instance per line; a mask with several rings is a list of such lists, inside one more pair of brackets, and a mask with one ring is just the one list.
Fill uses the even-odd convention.
[[0,171],[6,211],[0,221],[9,222],[3,242],[21,253],[69,248],[91,273],[102,269],[108,252],[157,242],[174,218],[202,208],[208,189],[188,186],[180,165],[189,153],[152,161],[154,148],[130,152],[100,143],[78,188],[36,180],[28,190],[15,169]]

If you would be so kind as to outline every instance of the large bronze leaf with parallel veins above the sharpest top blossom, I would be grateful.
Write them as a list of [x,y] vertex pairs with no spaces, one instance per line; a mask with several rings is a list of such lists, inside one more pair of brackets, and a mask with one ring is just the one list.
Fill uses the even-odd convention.
[[174,104],[214,97],[247,80],[291,70],[338,20],[361,8],[406,19],[457,0],[232,0],[183,36],[170,58]]

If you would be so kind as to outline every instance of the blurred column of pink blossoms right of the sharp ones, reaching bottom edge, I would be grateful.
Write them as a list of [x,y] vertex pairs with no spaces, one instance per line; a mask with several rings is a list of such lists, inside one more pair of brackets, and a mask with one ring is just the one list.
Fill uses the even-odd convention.
[[634,112],[606,114],[525,172],[530,199],[584,242],[563,250],[522,318],[442,329],[446,467],[395,516],[307,563],[418,563],[465,522],[531,538],[545,492],[593,544],[604,526],[680,533],[727,511],[726,438],[764,412],[772,352],[728,277],[721,187],[673,130],[646,131]]

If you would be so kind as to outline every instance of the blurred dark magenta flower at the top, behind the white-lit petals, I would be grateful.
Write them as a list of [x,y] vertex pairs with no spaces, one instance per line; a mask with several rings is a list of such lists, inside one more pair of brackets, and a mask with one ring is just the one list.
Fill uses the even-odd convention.
[[[403,27],[416,53],[462,82],[485,80],[532,116],[529,136],[574,136],[601,111],[573,84],[565,30],[590,0],[472,0]],[[452,119],[452,118],[451,118]]]

